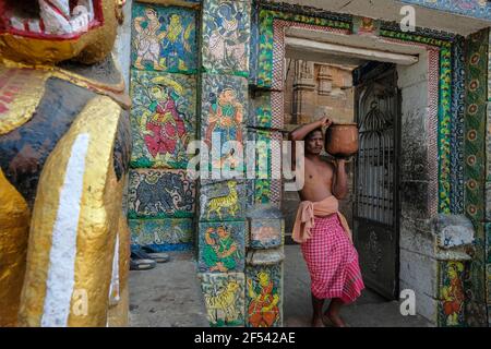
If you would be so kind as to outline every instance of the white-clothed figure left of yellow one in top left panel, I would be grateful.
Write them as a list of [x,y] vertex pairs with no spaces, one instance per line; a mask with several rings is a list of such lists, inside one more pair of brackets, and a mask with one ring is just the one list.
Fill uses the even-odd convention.
[[145,9],[145,16],[134,19],[134,29],[136,31],[134,38],[136,61],[134,65],[144,70],[143,62],[149,61],[155,70],[164,70],[158,60],[160,57],[160,40],[166,37],[167,33],[159,33],[160,21],[157,11],[151,8]]

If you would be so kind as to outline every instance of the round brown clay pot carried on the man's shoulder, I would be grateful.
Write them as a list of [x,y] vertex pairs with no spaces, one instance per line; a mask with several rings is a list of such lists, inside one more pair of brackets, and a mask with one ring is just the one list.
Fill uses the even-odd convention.
[[335,157],[349,157],[358,153],[358,125],[333,123],[325,132],[325,151]]

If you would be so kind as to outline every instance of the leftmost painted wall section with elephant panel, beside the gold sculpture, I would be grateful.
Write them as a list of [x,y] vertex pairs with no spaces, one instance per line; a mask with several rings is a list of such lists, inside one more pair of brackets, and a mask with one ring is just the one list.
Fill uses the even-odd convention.
[[193,246],[195,181],[187,174],[187,147],[197,127],[197,2],[132,4],[128,217],[132,243],[157,251]]

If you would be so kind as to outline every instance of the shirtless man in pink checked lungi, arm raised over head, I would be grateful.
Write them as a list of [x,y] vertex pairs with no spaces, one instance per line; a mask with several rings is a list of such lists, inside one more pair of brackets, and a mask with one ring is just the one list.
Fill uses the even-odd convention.
[[[291,141],[304,141],[306,149],[304,185],[299,191],[302,202],[294,227],[294,240],[301,243],[311,276],[314,327],[323,327],[324,322],[345,327],[340,309],[358,298],[364,288],[349,227],[338,212],[337,200],[348,192],[346,160],[337,158],[334,165],[321,158],[324,147],[322,128],[331,124],[332,120],[324,117],[290,134]],[[323,316],[324,300],[328,298],[332,301]]]

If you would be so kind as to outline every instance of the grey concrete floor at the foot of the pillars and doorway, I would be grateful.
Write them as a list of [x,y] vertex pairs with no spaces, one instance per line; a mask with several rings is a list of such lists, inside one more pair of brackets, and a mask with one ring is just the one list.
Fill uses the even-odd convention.
[[[284,325],[310,326],[310,279],[298,245],[285,246]],[[130,326],[207,327],[206,310],[190,252],[170,253],[171,261],[151,270],[130,272]],[[427,327],[421,316],[403,316],[399,303],[364,290],[342,313],[351,327]]]

